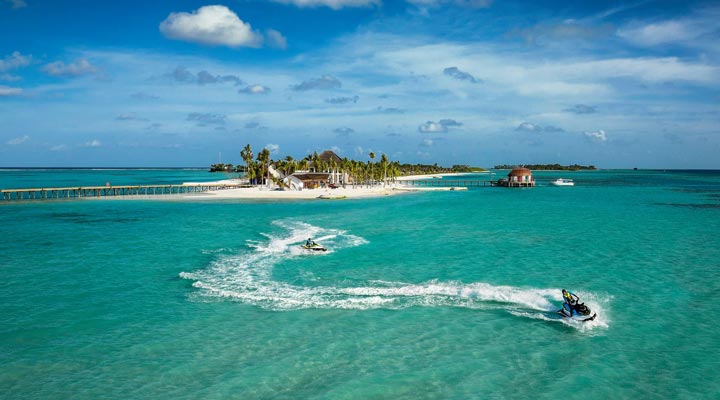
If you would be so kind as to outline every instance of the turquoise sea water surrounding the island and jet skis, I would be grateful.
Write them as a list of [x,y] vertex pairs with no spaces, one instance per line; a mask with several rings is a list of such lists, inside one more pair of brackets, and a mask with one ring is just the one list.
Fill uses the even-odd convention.
[[[720,172],[536,177],[326,202],[0,204],[0,397],[718,398]],[[309,236],[328,253],[300,252]],[[561,288],[598,318],[556,319]]]

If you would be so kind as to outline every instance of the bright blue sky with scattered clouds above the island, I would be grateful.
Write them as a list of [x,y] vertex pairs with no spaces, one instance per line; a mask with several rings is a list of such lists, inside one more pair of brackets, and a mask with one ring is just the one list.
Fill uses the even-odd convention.
[[[577,3],[577,4],[574,4]],[[0,0],[0,167],[720,168],[720,4]]]

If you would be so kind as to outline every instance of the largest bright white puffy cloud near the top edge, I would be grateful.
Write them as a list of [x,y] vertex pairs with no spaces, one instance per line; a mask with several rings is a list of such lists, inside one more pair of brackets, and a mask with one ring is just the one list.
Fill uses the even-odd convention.
[[260,47],[262,35],[225,6],[200,7],[192,13],[171,13],[160,23],[169,39],[209,46]]

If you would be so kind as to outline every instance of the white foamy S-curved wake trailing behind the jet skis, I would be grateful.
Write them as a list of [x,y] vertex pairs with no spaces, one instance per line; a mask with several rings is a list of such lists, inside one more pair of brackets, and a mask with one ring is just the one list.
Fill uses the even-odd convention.
[[180,277],[194,281],[199,289],[191,296],[199,299],[231,299],[269,310],[308,308],[403,309],[408,307],[463,307],[505,310],[524,318],[564,323],[578,329],[607,327],[603,305],[609,298],[580,293],[583,301],[598,313],[595,321],[581,323],[563,319],[555,311],[562,302],[560,289],[534,289],[496,286],[488,283],[462,283],[432,280],[409,284],[371,280],[360,286],[300,286],[273,279],[273,268],[280,262],[306,257],[299,244],[308,237],[328,248],[328,254],[367,243],[346,231],[327,229],[297,221],[275,221],[281,234],[263,234],[266,240],[249,241],[239,254],[219,254],[207,268],[182,272]]

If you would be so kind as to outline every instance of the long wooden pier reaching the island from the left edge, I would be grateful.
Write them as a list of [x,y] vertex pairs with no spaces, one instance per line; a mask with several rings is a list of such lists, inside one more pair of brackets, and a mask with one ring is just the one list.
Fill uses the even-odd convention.
[[144,185],[144,186],[86,186],[41,189],[0,189],[3,201],[51,200],[120,196],[158,196],[202,193],[242,187],[239,184]]

